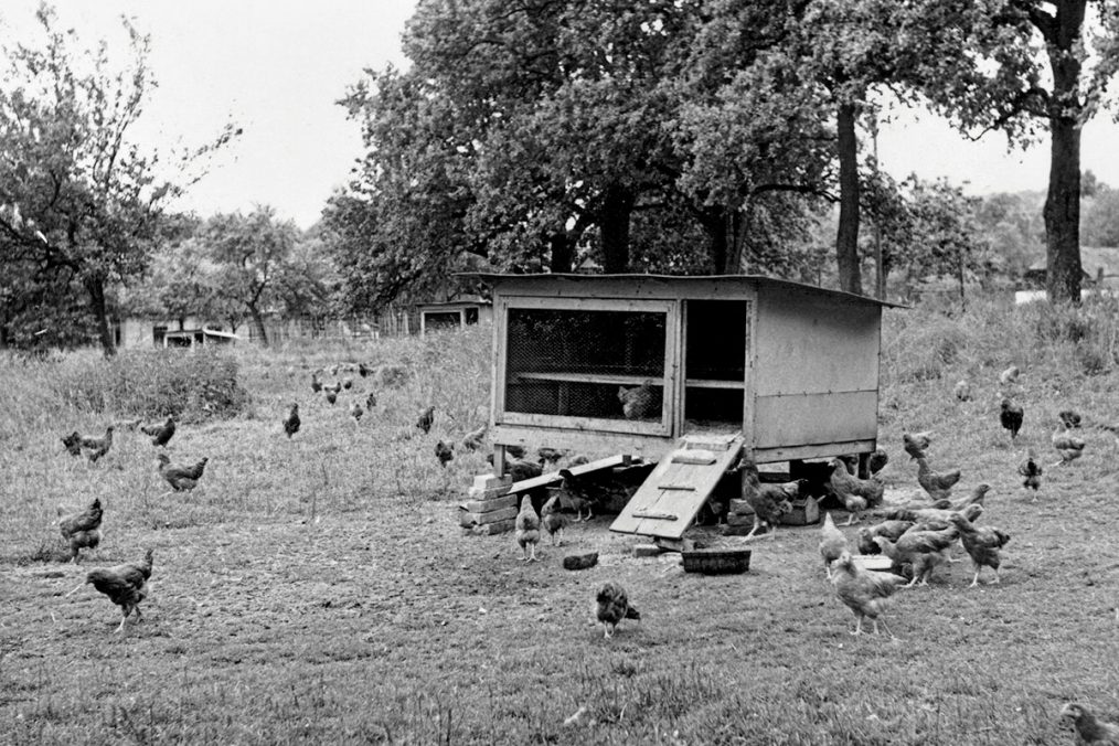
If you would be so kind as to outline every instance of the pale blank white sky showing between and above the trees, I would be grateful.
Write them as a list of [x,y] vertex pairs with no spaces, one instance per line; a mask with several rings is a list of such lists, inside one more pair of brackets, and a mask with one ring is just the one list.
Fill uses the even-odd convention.
[[[152,38],[158,89],[138,123],[143,144],[201,144],[233,121],[244,129],[178,205],[203,216],[271,205],[313,224],[361,153],[358,125],[335,104],[361,75],[406,64],[399,50],[416,0],[57,0],[59,21],[86,45],[122,40],[128,15]],[[28,28],[38,0],[4,0],[0,19]],[[882,126],[880,160],[901,178],[948,177],[970,193],[1045,189],[1047,147],[974,143],[931,116]],[[1083,135],[1082,166],[1119,187],[1119,125],[1107,115]]]

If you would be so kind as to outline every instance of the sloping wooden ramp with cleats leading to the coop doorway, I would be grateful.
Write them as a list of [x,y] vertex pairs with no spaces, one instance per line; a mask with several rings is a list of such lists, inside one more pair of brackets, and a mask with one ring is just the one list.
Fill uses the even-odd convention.
[[680,438],[633,493],[610,530],[679,540],[739,457],[742,444],[741,434]]

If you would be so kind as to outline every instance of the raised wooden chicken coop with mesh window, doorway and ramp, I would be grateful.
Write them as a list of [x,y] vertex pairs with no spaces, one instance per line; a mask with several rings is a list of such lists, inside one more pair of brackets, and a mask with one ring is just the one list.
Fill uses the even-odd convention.
[[659,461],[612,530],[678,538],[743,451],[764,464],[876,447],[886,303],[750,275],[480,277],[495,466],[508,445]]

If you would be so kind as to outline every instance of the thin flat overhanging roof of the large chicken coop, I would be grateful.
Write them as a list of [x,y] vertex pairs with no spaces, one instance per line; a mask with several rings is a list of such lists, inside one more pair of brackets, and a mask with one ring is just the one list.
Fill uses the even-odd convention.
[[720,283],[722,285],[741,285],[743,290],[747,287],[756,287],[759,290],[775,290],[775,291],[801,291],[809,292],[819,295],[833,296],[836,300],[843,300],[845,302],[854,303],[866,303],[869,305],[878,305],[894,309],[909,308],[900,303],[891,303],[888,301],[880,301],[875,298],[868,298],[866,295],[856,295],[854,293],[845,293],[838,290],[828,290],[827,287],[819,287],[818,285],[808,285],[800,282],[792,282],[790,280],[778,280],[775,277],[765,277],[762,275],[661,275],[661,274],[487,274],[487,273],[463,273],[469,274],[469,276],[478,277],[479,280],[488,283],[491,286],[509,285],[516,284],[519,286],[529,286],[533,289],[539,289],[540,291],[546,291],[549,286],[561,286],[561,285],[585,285],[589,293],[593,292],[595,285],[606,285],[614,284],[619,281],[630,282],[634,285],[641,284],[662,284],[668,286],[677,286],[680,291],[685,290],[700,290],[705,285],[711,283]]

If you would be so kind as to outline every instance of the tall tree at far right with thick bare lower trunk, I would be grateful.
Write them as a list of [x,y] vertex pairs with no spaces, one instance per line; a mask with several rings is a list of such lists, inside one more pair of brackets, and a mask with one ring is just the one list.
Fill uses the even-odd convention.
[[1004,0],[951,21],[971,54],[931,98],[966,131],[1002,130],[1029,144],[1038,123],[1049,130],[1046,290],[1054,302],[1079,303],[1080,132],[1106,105],[1119,69],[1119,3]]

